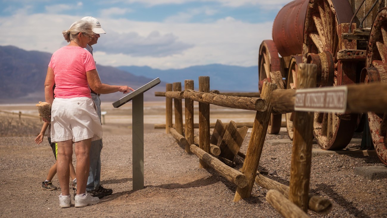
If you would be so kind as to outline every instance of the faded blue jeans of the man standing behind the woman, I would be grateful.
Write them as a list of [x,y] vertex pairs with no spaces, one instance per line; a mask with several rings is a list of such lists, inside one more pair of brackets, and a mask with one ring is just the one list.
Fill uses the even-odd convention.
[[[96,94],[91,93],[91,97],[96,104],[97,114],[101,121],[101,99]],[[91,142],[90,147],[90,170],[89,178],[87,178],[86,190],[97,190],[99,187],[99,180],[101,179],[101,150],[103,144],[102,139]]]

